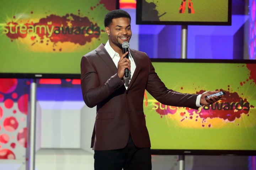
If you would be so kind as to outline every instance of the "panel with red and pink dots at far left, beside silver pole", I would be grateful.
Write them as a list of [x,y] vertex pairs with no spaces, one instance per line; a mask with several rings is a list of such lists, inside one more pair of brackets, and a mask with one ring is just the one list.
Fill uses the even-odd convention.
[[25,153],[28,92],[24,89],[29,85],[26,79],[0,78],[0,159],[20,159]]

